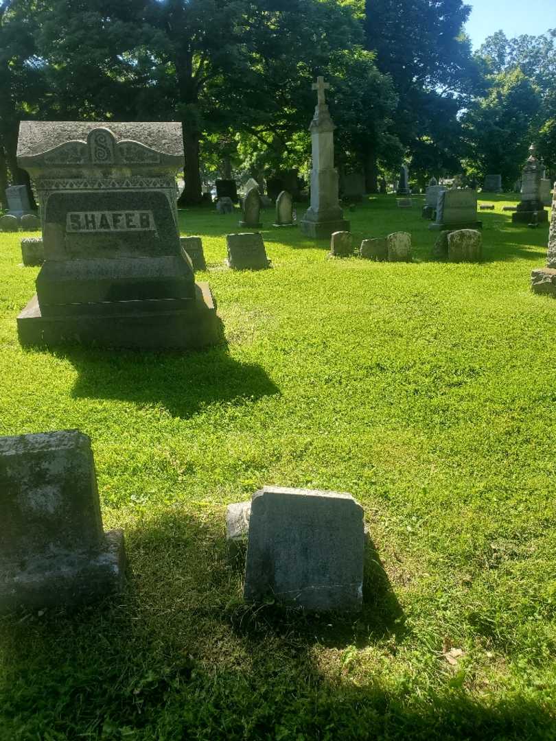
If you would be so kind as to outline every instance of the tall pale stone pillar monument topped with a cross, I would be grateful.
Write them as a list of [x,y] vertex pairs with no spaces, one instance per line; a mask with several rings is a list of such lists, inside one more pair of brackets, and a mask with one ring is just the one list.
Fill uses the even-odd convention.
[[328,239],[336,231],[349,231],[338,198],[338,173],[334,168],[334,122],[326,104],[325,90],[330,84],[318,77],[317,107],[309,130],[313,144],[311,169],[311,206],[301,222],[301,229],[315,239]]

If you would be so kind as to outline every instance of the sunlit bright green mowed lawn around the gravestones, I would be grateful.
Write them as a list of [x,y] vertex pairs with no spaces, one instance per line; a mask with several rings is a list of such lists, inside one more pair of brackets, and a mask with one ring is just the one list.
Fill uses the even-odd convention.
[[[0,618],[1,741],[556,739],[548,228],[485,198],[484,262],[449,265],[422,202],[346,210],[357,241],[411,231],[411,265],[326,259],[269,210],[273,268],[241,273],[239,212],[181,211],[226,337],[188,354],[21,350],[38,269],[0,235],[0,434],[87,433],[129,561],[119,597]],[[360,616],[243,605],[225,507],[265,484],[361,502]]]

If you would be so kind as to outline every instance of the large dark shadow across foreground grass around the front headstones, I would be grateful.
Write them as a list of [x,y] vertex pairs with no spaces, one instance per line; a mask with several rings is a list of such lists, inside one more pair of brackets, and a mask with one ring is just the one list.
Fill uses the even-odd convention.
[[[554,738],[554,717],[530,695],[479,702],[448,668],[435,678],[418,665],[403,677],[388,672],[394,642],[389,655],[388,643],[378,647],[380,672],[356,682],[353,639],[323,642],[317,617],[238,630],[240,582],[225,559],[223,511],[175,505],[137,519],[126,539],[124,594],[70,615],[0,620],[5,738]],[[379,615],[371,643],[397,608],[371,545],[367,566],[365,591],[375,597],[365,597],[364,615]],[[326,645],[345,647],[342,657]]]

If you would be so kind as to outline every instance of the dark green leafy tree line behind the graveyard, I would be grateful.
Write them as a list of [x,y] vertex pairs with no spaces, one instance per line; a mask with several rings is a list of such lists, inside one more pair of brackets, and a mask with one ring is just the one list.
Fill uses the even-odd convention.
[[317,74],[338,165],[517,178],[556,166],[556,31],[471,52],[463,0],[0,0],[0,199],[27,183],[21,119],[179,120],[185,203],[203,174],[307,173]]

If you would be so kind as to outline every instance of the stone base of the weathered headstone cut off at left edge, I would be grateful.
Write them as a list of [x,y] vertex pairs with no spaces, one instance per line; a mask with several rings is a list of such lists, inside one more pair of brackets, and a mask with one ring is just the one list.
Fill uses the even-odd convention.
[[78,605],[113,594],[122,588],[125,570],[124,534],[105,534],[105,547],[91,555],[35,557],[19,571],[0,562],[0,613],[21,607],[37,609]]

